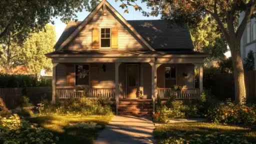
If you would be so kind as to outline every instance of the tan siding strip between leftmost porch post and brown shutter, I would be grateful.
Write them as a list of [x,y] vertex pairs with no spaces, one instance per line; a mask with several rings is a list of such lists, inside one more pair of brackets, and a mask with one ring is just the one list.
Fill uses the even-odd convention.
[[57,64],[56,66],[56,86],[66,85],[66,66],[64,64]]

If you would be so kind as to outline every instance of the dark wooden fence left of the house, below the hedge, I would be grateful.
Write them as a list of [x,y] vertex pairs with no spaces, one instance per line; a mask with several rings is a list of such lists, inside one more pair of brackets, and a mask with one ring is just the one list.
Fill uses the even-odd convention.
[[0,102],[5,108],[20,106],[22,95],[28,96],[30,102],[37,103],[44,95],[51,95],[51,87],[0,88]]

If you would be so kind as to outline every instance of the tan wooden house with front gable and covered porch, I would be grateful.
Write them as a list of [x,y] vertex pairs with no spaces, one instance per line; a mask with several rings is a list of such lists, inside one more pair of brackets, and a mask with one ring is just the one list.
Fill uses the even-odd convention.
[[[186,25],[165,20],[126,21],[107,1],[82,21],[69,22],[46,54],[52,59],[52,100],[58,95],[113,97],[121,102],[143,97],[166,98],[173,85],[186,85],[177,98],[195,98],[202,91],[202,66],[207,55],[193,51]],[[194,88],[194,67],[200,89]],[[132,101],[132,100],[131,100]],[[154,106],[154,102],[152,104]]]

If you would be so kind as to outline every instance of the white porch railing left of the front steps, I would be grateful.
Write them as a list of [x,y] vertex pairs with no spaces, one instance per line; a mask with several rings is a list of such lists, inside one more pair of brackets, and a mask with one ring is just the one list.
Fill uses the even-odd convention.
[[56,89],[56,95],[59,98],[80,98],[82,96],[86,97],[103,97],[103,98],[113,98],[115,96],[114,88],[90,88],[88,91],[75,90],[75,89]]

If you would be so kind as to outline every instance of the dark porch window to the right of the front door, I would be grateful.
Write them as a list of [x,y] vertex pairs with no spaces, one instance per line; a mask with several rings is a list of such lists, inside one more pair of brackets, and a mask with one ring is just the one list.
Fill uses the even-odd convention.
[[164,87],[171,88],[176,84],[176,69],[175,67],[165,67],[164,69]]

